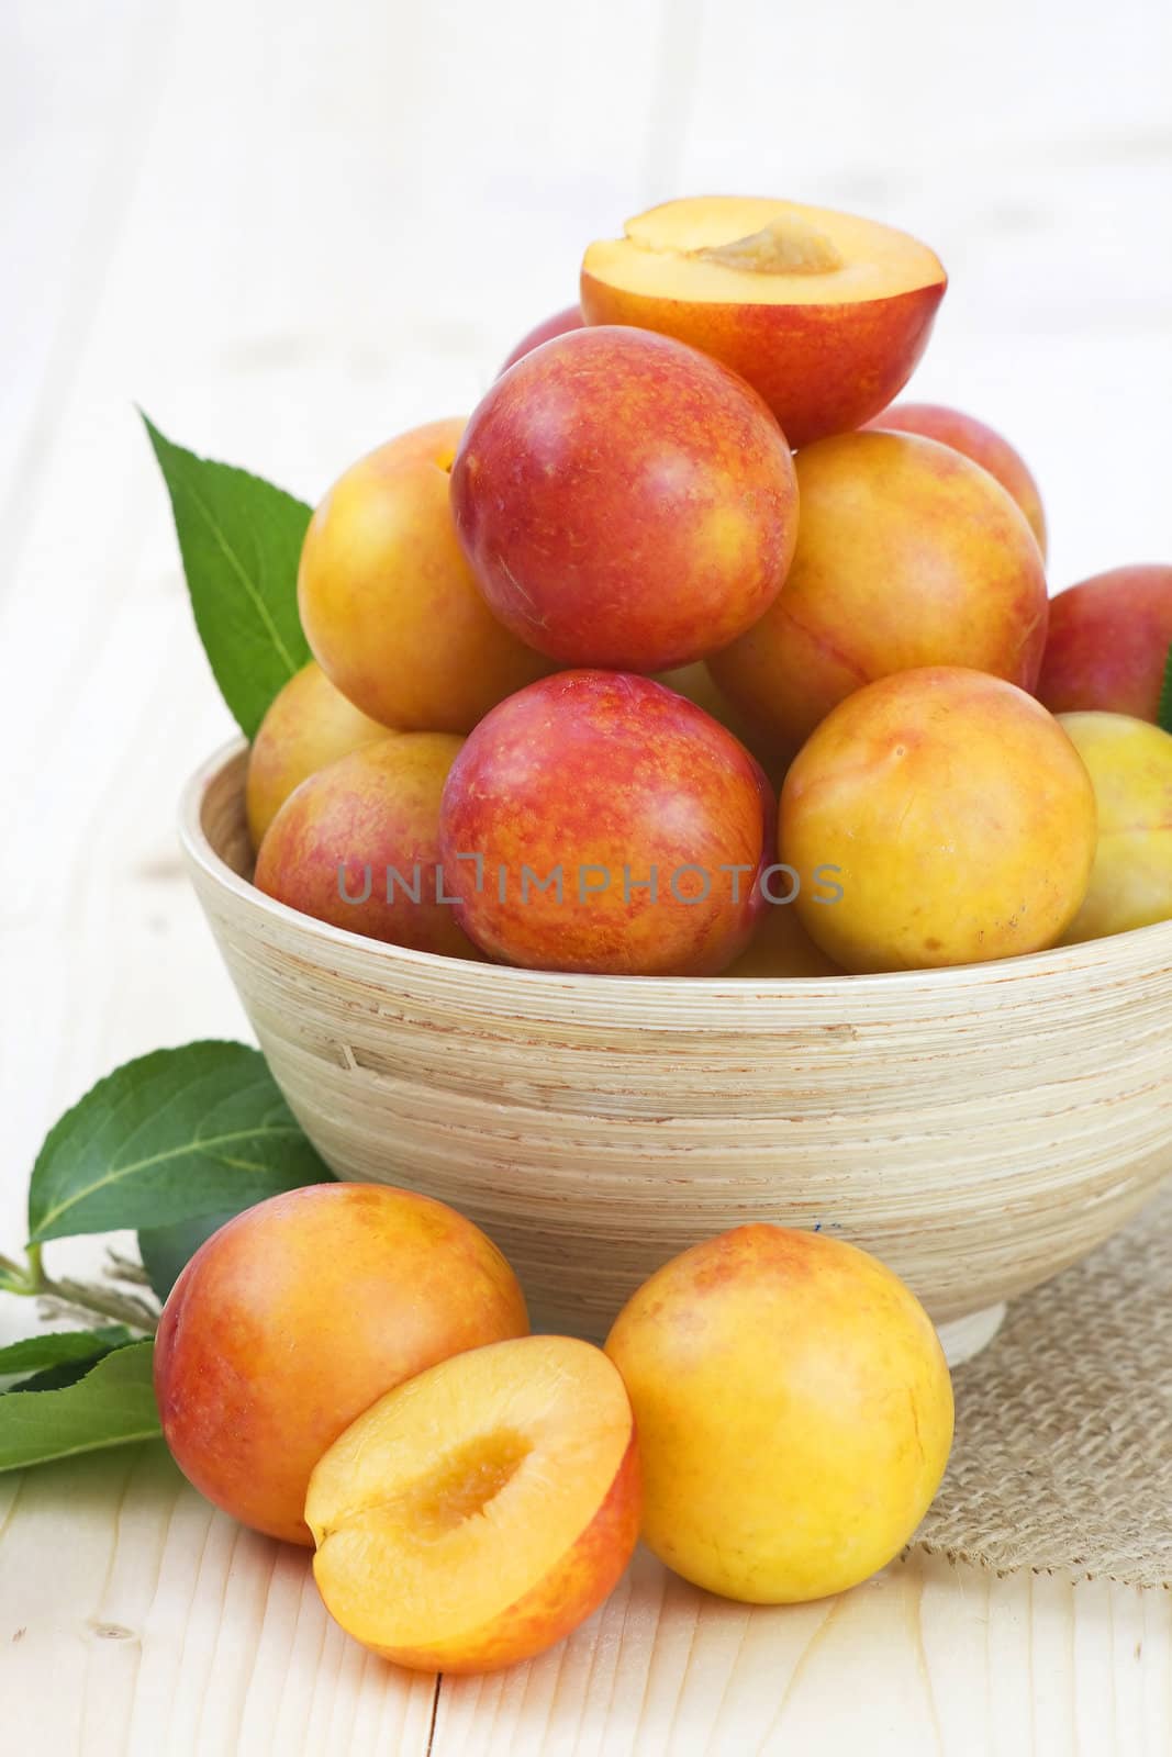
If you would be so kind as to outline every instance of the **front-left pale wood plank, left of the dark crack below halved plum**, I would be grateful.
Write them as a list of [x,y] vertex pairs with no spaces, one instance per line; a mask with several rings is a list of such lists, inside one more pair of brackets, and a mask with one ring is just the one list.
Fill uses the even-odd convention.
[[346,1641],[307,1555],[214,1513],[160,1444],[30,1471],[7,1511],[0,1699],[12,1750],[423,1757],[434,1680]]

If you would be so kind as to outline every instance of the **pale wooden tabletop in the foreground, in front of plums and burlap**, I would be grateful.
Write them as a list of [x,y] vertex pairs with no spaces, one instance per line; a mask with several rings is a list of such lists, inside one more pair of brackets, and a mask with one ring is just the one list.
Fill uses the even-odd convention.
[[37,1757],[1165,1757],[1170,1653],[1170,1594],[914,1553],[763,1609],[640,1551],[569,1641],[438,1690],[348,1641],[306,1553],[158,1444],[0,1481],[0,1699]]

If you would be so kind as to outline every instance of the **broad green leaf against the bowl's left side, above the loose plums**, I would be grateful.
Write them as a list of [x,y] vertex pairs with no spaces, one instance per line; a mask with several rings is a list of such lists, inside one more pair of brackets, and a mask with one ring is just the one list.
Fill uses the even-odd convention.
[[186,1044],[127,1061],[49,1130],[28,1232],[172,1226],[329,1179],[258,1049]]

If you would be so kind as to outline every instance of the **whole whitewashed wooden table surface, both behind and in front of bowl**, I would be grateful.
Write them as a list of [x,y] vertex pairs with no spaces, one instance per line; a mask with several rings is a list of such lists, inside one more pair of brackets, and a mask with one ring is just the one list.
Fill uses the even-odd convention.
[[[0,1247],[60,1109],[246,1035],[174,843],[228,731],[132,401],[307,499],[467,408],[585,239],[698,186],[857,206],[954,288],[917,394],[1012,432],[1054,580],[1172,553],[1172,14],[1058,0],[9,0]],[[93,1244],[51,1247],[91,1265]],[[0,1300],[0,1341],[32,1314]],[[0,1478],[26,1753],[1163,1757],[1172,1601],[915,1557],[749,1611],[640,1557],[545,1659],[409,1678],[146,1446]]]

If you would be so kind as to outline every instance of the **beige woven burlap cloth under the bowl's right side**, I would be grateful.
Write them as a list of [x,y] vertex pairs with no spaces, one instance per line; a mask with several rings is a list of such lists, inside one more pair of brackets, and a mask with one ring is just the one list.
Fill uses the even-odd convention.
[[954,1374],[956,1442],[914,1539],[1009,1573],[1172,1585],[1172,1181],[1009,1307]]

